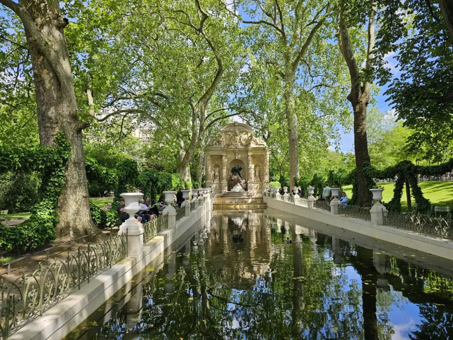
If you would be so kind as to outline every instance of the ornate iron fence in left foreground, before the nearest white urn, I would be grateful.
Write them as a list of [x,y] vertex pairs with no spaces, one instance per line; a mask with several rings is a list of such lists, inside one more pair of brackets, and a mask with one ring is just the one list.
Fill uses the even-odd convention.
[[22,274],[13,282],[0,281],[0,333],[6,340],[19,324],[26,322],[53,306],[56,302],[105,268],[128,256],[128,235],[110,236],[77,253],[67,255],[65,262],[55,261],[48,266],[39,263],[32,274]]

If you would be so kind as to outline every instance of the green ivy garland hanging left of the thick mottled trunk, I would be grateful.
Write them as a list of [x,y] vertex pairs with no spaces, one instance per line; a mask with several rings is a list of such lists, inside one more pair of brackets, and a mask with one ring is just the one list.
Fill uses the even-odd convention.
[[55,138],[55,147],[37,145],[30,149],[0,149],[0,172],[40,171],[42,181],[39,203],[32,207],[32,215],[13,228],[0,228],[0,248],[32,249],[55,239],[59,223],[58,199],[65,184],[65,171],[70,156],[70,144],[63,133]]

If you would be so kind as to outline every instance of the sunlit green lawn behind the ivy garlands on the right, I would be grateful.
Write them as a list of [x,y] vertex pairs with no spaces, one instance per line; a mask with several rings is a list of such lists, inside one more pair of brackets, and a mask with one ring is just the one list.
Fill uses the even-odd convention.
[[[388,203],[393,197],[393,188],[395,183],[377,183],[384,187],[383,201]],[[453,207],[453,182],[419,182],[424,198],[428,199],[434,205],[449,205]],[[343,187],[346,195],[352,197],[352,185]],[[414,198],[411,200],[412,205],[415,204]],[[406,187],[403,188],[403,196],[401,197],[401,208],[407,210]]]

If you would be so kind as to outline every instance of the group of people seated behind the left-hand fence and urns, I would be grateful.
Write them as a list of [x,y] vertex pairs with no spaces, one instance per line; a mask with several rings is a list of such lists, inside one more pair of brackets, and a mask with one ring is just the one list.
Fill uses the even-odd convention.
[[[179,191],[176,193],[175,200],[178,206],[183,204],[183,188],[179,187]],[[117,205],[116,211],[118,212],[118,216],[120,217],[122,222],[126,222],[129,218],[129,214],[124,210],[126,202],[124,200],[120,201],[120,204]],[[144,199],[138,200],[139,210],[134,215],[135,218],[140,221],[141,223],[146,223],[152,221],[155,217],[162,214],[163,209],[166,208],[166,205],[163,204],[163,199],[159,200],[156,204],[151,204],[149,197],[145,197]]]

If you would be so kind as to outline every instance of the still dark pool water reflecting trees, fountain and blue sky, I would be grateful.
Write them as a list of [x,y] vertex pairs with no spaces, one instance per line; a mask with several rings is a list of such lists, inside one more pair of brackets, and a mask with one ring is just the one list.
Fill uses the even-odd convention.
[[65,339],[453,339],[450,261],[271,209],[200,231]]

